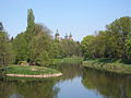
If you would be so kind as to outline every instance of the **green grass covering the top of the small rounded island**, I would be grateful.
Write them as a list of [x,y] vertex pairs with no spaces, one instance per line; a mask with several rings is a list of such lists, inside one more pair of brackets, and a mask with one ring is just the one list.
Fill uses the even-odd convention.
[[26,66],[26,65],[11,65],[7,69],[7,74],[28,74],[28,75],[39,75],[39,74],[55,74],[60,73],[57,70],[48,69],[44,66]]

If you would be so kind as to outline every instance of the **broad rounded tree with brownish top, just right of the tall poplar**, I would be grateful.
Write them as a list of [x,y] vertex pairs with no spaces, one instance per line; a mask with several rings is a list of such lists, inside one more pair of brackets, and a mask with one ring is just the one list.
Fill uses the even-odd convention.
[[50,30],[40,24],[35,25],[35,36],[31,44],[31,62],[39,65],[45,65],[52,57],[52,38]]

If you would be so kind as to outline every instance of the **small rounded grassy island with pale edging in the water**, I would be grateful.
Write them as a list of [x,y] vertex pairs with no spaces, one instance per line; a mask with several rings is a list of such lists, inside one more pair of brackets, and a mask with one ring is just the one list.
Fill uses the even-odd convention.
[[57,77],[61,76],[62,73],[44,66],[34,66],[34,65],[12,65],[7,68],[7,76],[12,77]]

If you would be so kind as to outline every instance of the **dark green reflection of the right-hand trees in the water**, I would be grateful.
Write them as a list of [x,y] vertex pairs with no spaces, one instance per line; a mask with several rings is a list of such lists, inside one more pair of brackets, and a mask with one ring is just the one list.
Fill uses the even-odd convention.
[[82,83],[105,98],[131,98],[131,76],[84,69]]

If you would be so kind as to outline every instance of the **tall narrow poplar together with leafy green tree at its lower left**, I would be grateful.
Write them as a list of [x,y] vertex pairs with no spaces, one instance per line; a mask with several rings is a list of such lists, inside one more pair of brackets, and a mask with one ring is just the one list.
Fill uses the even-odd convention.
[[13,40],[13,48],[15,53],[15,62],[31,61],[29,44],[35,34],[35,16],[32,9],[27,11],[27,27],[26,30],[19,34]]

